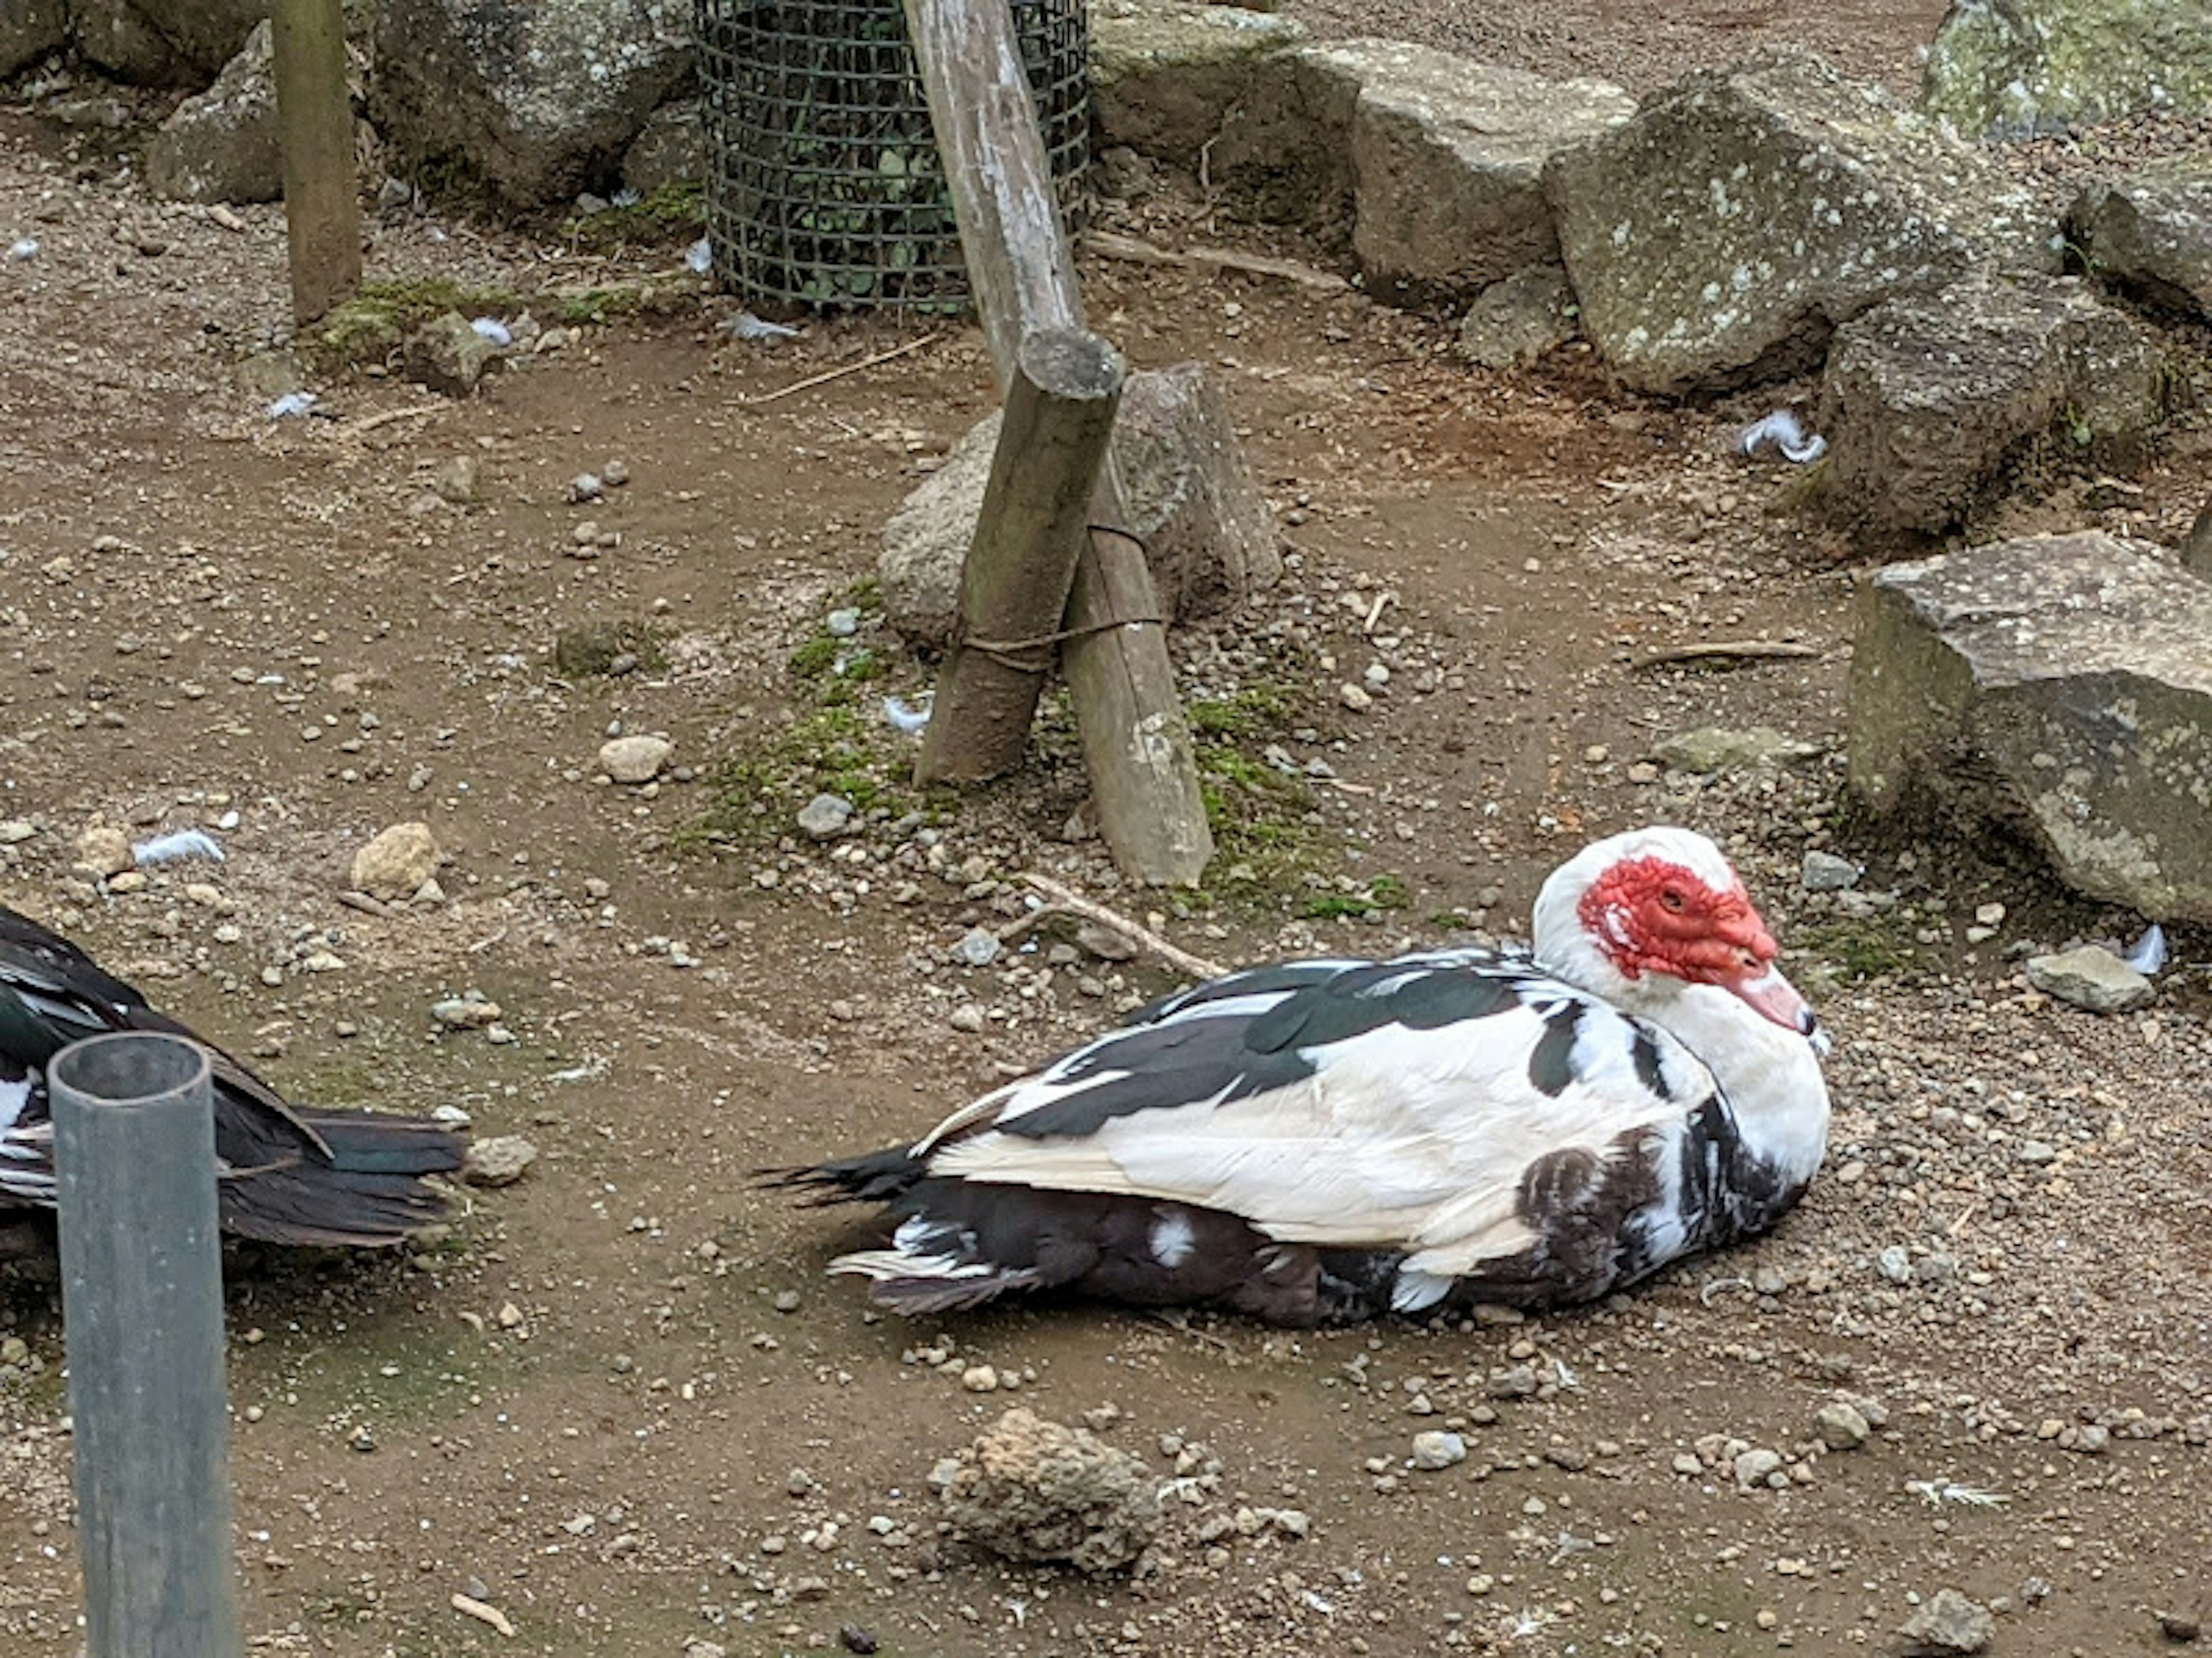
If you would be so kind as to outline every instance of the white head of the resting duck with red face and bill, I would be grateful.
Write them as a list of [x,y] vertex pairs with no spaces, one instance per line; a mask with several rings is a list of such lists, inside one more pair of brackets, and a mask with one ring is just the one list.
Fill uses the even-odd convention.
[[1632,1012],[1712,986],[1827,1050],[1805,997],[1774,966],[1774,935],[1743,878],[1692,829],[1630,829],[1559,864],[1535,900],[1535,955]]

